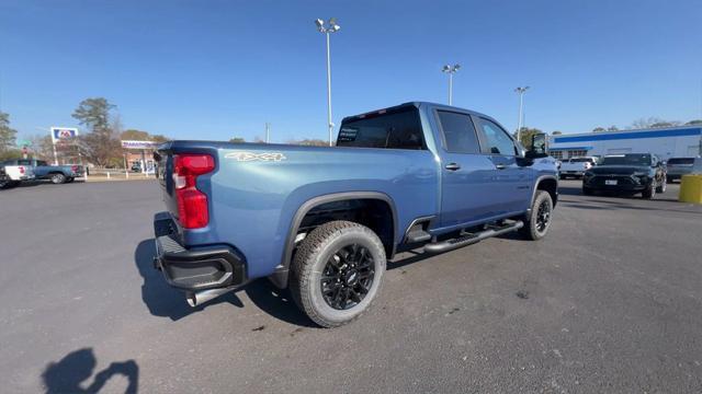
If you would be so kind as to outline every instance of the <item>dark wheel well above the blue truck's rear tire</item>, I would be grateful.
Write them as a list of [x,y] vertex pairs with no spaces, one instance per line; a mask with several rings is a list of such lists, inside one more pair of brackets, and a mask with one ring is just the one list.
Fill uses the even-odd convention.
[[308,233],[332,220],[348,220],[367,227],[377,234],[390,258],[395,246],[395,220],[387,201],[373,198],[344,199],[322,202],[307,211],[297,234]]

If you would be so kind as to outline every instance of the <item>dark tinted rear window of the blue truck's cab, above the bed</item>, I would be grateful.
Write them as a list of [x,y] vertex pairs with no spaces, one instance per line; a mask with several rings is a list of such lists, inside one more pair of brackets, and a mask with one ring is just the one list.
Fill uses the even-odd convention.
[[427,149],[416,107],[364,114],[341,124],[337,147]]

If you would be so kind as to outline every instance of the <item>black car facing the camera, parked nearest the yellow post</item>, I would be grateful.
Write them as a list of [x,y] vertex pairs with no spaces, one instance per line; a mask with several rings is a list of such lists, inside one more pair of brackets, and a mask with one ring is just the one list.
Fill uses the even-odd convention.
[[605,155],[582,177],[582,194],[595,192],[641,193],[644,198],[654,198],[666,192],[666,166],[652,153]]

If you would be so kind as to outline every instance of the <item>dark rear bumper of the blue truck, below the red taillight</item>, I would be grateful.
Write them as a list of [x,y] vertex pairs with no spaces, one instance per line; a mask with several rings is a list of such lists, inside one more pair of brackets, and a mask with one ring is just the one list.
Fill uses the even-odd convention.
[[237,251],[227,245],[186,248],[178,241],[177,229],[169,212],[157,213],[154,218],[154,264],[163,273],[168,285],[199,291],[246,282],[246,263]]

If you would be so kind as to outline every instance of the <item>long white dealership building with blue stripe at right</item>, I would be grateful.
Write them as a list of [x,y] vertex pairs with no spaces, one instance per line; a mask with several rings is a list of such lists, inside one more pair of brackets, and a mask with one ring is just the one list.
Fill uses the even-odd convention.
[[552,136],[548,149],[561,160],[623,153],[697,158],[702,153],[702,125]]

